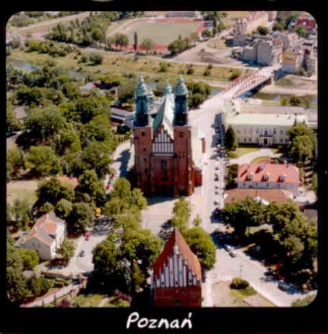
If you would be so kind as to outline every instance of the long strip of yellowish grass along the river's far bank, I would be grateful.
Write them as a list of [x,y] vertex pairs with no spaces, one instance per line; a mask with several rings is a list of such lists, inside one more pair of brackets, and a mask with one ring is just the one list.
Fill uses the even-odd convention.
[[[83,49],[81,49],[83,52]],[[85,51],[84,51],[85,52]],[[87,51],[91,52],[91,51]],[[101,52],[101,51],[99,51]],[[177,79],[180,71],[187,70],[188,64],[180,64],[170,62],[169,69],[167,72],[159,72],[159,64],[163,62],[162,60],[155,60],[149,58],[135,58],[131,55],[122,55],[120,53],[111,53],[107,51],[102,51],[104,60],[101,65],[98,66],[87,66],[78,64],[77,60],[74,59],[75,53],[70,53],[66,57],[57,57],[55,62],[58,66],[63,66],[64,68],[76,70],[78,66],[81,66],[83,73],[133,73],[134,75],[148,76],[149,79],[159,79],[163,78],[165,80]],[[27,53],[24,51],[19,51],[16,49],[12,52],[12,55],[8,57],[8,60],[21,60],[23,62],[29,62],[31,64],[44,64],[46,60],[53,60],[53,57],[46,54],[40,54],[36,52]],[[206,81],[206,77],[203,76],[204,71],[207,68],[207,64],[204,65],[193,65],[194,73],[193,75],[184,75],[185,81],[193,81],[197,79],[202,79]],[[209,81],[229,81],[230,75],[232,73],[232,68],[229,67],[218,67],[213,66],[210,71],[211,76]]]

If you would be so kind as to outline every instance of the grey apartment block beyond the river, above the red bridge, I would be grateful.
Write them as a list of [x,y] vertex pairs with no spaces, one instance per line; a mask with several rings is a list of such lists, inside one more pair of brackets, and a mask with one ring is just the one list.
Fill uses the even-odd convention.
[[242,60],[262,66],[279,64],[282,60],[282,45],[280,38],[255,38],[251,45],[243,49]]

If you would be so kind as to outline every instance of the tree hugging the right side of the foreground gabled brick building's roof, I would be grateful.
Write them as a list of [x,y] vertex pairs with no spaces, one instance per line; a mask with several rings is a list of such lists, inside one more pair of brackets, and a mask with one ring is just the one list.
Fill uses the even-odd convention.
[[202,229],[202,227],[193,227],[183,233],[191,251],[200,260],[202,272],[212,269],[215,265],[215,244],[210,238],[210,235]]

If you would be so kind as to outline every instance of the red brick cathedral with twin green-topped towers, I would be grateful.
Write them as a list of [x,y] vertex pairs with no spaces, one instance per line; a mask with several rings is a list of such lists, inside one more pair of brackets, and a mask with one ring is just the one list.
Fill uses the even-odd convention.
[[188,90],[182,77],[172,93],[167,84],[154,103],[141,76],[135,91],[135,170],[146,195],[191,195],[202,185],[204,136],[188,122]]

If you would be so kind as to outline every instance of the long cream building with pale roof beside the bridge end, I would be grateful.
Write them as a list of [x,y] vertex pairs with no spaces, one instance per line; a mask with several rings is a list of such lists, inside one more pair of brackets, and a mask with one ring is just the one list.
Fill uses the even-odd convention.
[[296,123],[308,125],[305,114],[261,114],[241,112],[240,100],[223,104],[225,128],[234,129],[239,143],[272,146],[288,142],[287,131]]

